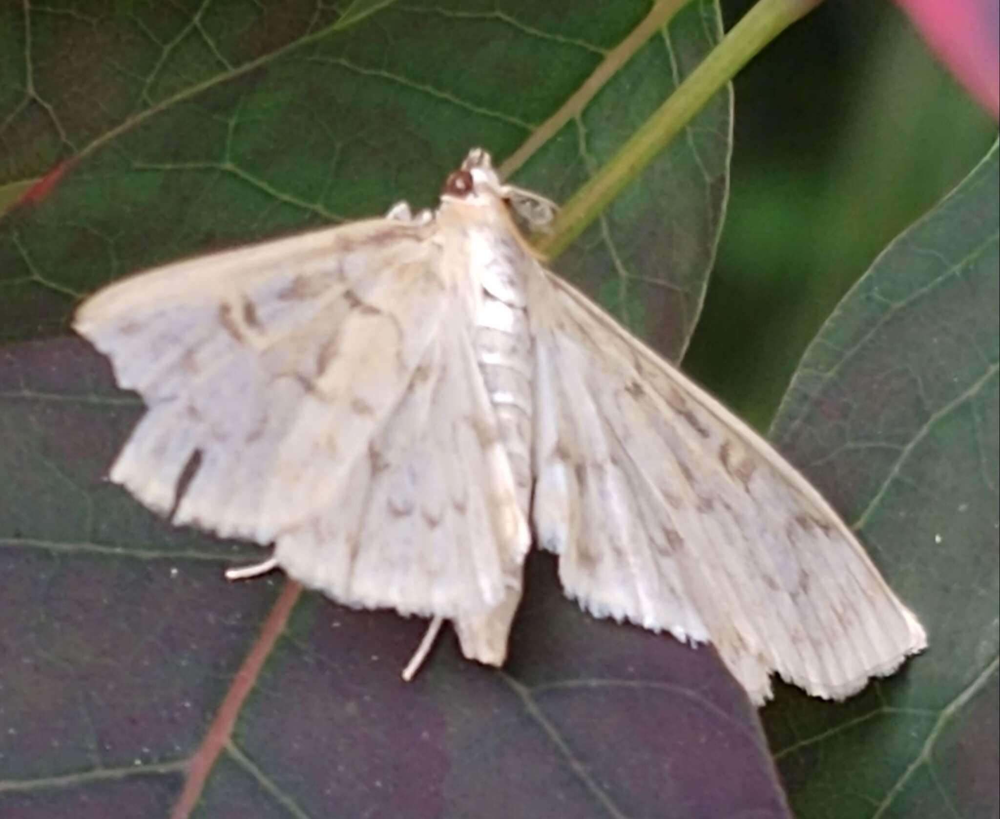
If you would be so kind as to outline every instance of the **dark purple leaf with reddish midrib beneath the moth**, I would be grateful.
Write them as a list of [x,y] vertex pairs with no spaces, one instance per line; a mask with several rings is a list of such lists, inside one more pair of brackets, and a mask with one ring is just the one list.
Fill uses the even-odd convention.
[[714,652],[588,617],[550,557],[503,671],[448,636],[404,684],[422,621],[226,584],[259,552],[102,478],[141,408],[82,342],[15,346],[0,373],[0,469],[24,476],[0,512],[0,815],[169,815],[242,691],[193,815],[787,817]]

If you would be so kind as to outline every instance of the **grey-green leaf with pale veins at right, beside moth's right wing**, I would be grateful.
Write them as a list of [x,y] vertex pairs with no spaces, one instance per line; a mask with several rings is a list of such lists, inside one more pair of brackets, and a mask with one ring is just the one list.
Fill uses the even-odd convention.
[[843,704],[765,724],[800,819],[995,817],[1000,328],[997,146],[848,294],[772,429],[928,631]]

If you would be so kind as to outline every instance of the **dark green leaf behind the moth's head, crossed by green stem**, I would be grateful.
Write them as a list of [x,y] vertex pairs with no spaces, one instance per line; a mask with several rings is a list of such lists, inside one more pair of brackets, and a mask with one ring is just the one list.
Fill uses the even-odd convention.
[[[0,106],[7,181],[44,173],[40,156],[63,165],[57,184],[50,172],[0,224],[2,338],[58,334],[77,299],[142,268],[399,199],[432,205],[475,145],[513,155],[504,171],[562,201],[720,35],[708,0],[662,30],[680,0],[453,5],[354,3],[324,16],[277,4],[233,19],[29,8],[11,43],[30,42],[32,70]],[[69,49],[48,80],[35,66],[56,72],[39,57],[45,46]],[[70,71],[77,62],[90,70]],[[700,311],[729,123],[726,93],[558,266],[667,355],[683,350]]]

